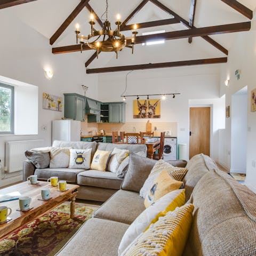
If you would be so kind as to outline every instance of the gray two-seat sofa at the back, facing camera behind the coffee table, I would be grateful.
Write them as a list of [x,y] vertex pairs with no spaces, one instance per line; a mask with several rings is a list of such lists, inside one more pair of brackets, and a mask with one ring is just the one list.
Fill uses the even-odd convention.
[[[102,142],[84,142],[84,141],[53,141],[52,147],[72,147],[75,149],[92,149],[92,157],[97,149],[111,151],[114,148],[128,149],[131,153],[142,152],[147,155],[147,147],[143,144],[113,144]],[[175,166],[184,167],[186,161],[170,161]],[[59,177],[59,180],[66,180],[68,183],[77,183],[77,198],[91,201],[105,202],[121,187],[123,179],[118,178],[116,173],[102,172],[97,170],[69,169],[49,167],[36,169],[36,166],[30,161],[23,162],[23,181],[30,175],[37,175],[38,180],[46,181],[52,176]]]

